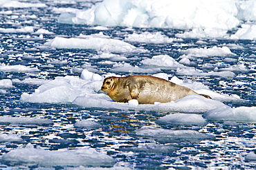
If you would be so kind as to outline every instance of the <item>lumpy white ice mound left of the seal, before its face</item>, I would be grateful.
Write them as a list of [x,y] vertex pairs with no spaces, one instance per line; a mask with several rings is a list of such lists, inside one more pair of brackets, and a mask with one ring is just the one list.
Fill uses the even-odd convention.
[[20,100],[30,103],[72,103],[77,96],[98,98],[104,95],[95,93],[102,85],[100,75],[84,70],[81,76],[84,80],[76,76],[56,77],[39,86],[33,94],[21,94]]

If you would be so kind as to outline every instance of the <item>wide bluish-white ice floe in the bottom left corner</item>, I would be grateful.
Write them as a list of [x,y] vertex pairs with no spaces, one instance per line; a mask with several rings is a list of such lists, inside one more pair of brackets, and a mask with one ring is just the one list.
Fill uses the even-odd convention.
[[34,148],[31,144],[28,144],[25,148],[11,150],[4,154],[1,160],[17,164],[39,164],[44,167],[80,165],[85,167],[112,167],[115,164],[111,156],[93,149],[49,151]]

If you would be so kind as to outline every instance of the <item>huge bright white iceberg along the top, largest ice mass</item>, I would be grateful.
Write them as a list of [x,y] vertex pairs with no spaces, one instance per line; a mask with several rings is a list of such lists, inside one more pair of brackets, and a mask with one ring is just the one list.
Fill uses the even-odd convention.
[[[69,20],[70,23],[88,25],[230,30],[239,24],[236,16],[241,4],[243,3],[230,0],[104,0],[90,9],[75,12]],[[252,6],[248,6],[248,9],[252,8]]]

